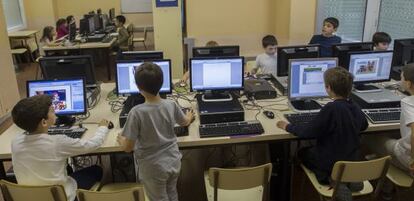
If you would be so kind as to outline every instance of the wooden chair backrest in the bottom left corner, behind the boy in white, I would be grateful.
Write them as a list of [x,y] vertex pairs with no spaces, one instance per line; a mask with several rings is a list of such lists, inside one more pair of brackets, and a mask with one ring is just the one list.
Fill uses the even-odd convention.
[[0,181],[5,201],[67,201],[65,190],[60,185],[29,186]]

